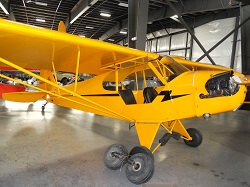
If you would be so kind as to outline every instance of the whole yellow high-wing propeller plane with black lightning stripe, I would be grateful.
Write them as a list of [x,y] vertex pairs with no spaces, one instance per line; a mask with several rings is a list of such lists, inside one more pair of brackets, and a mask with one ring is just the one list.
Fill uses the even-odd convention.
[[[134,50],[98,40],[0,20],[0,66],[10,66],[40,80],[36,92],[3,94],[15,102],[44,99],[60,106],[92,112],[134,123],[140,145],[130,152],[121,144],[108,147],[105,165],[125,166],[134,184],[149,181],[154,156],[170,138],[191,147],[202,143],[202,134],[186,129],[181,119],[233,111],[244,102],[249,79],[232,69],[195,63],[181,57]],[[40,69],[40,76],[25,68]],[[56,71],[75,73],[74,84],[59,86]],[[96,75],[77,82],[80,73]],[[152,148],[159,128],[166,133]]]

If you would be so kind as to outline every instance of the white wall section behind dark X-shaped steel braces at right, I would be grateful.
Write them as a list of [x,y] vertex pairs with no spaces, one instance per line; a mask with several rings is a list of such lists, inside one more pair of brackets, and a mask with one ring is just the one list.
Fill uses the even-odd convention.
[[[202,43],[203,47],[206,50],[209,50],[224,36],[226,36],[230,31],[234,29],[235,20],[236,20],[235,18],[228,18],[228,19],[212,21],[210,23],[195,28],[195,35]],[[238,35],[240,35],[240,32]],[[210,56],[213,58],[216,64],[230,67],[232,45],[233,45],[233,35],[227,38],[222,44],[220,44],[215,50],[213,50],[210,53]],[[241,72],[241,54],[240,54],[241,50],[239,50],[239,48],[240,48],[240,42],[237,42],[235,68],[237,71]],[[204,53],[202,52],[200,47],[197,45],[196,42],[194,42],[192,60],[194,61],[197,60],[203,54]],[[210,63],[207,57],[205,57],[201,61],[205,63]]]

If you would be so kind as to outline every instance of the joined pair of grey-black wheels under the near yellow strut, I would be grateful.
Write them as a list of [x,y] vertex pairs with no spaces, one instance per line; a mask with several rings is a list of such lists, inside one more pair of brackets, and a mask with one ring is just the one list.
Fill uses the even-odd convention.
[[126,176],[134,184],[146,183],[154,174],[154,156],[143,146],[134,147],[128,155],[123,145],[113,144],[107,148],[103,158],[104,164],[112,170],[126,164]]

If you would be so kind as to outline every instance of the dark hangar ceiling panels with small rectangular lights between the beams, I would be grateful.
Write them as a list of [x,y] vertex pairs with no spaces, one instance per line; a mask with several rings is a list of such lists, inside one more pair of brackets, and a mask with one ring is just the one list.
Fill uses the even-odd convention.
[[[0,2],[6,0],[0,0]],[[67,32],[88,38],[99,39],[107,31],[114,28],[117,24],[124,22],[128,17],[128,8],[119,6],[119,3],[128,4],[128,0],[80,0],[95,2],[78,18],[73,24],[69,24]],[[17,22],[27,23],[39,27],[57,30],[59,21],[70,19],[69,15],[79,0],[9,0],[10,7]],[[187,0],[186,0],[187,1]],[[225,1],[225,0],[221,0]],[[175,5],[181,5],[183,9],[185,0],[171,0]],[[164,0],[150,0],[149,14],[157,12],[166,7]],[[211,10],[210,10],[211,11]],[[103,17],[100,13],[108,13],[110,17]],[[184,18],[190,18],[204,14],[193,13],[183,15]],[[8,16],[0,8],[0,17],[8,19]],[[148,24],[148,32],[154,32],[157,29],[164,28],[167,23],[174,22],[170,18],[162,21],[155,21]],[[107,37],[106,41],[118,43],[127,37],[127,34],[119,32]]]

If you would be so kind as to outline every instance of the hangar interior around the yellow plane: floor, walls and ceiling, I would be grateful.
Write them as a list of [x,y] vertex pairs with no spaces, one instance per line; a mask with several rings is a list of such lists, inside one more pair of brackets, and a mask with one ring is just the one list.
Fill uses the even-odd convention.
[[[250,74],[247,0],[0,0],[0,7],[3,19],[51,30],[63,21],[79,37]],[[249,97],[246,110],[184,120],[203,133],[202,145],[170,139],[142,186],[250,186]],[[135,128],[51,103],[43,111],[44,104],[0,100],[0,186],[134,186],[123,168],[105,167],[103,153],[114,143],[138,145]]]

